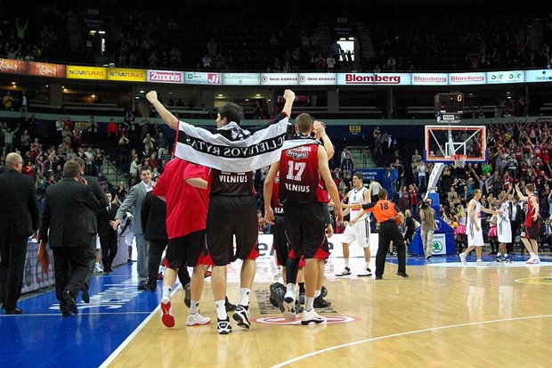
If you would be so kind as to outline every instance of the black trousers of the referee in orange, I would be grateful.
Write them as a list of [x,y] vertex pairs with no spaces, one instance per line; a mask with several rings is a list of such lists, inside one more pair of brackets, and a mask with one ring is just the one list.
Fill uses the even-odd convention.
[[406,272],[406,249],[401,231],[394,220],[381,223],[379,226],[379,241],[377,242],[376,276],[383,276],[386,269],[386,257],[389,251],[389,243],[393,241],[399,260],[398,272]]

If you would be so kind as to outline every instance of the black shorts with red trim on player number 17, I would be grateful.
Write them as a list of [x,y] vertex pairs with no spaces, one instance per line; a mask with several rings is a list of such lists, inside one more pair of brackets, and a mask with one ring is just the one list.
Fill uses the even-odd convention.
[[327,207],[321,202],[296,206],[284,204],[286,234],[295,256],[302,255],[305,259],[329,257],[326,211]]

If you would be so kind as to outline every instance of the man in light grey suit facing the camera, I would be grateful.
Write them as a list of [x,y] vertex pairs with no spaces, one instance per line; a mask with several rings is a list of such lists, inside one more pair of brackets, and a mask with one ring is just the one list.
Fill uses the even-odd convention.
[[142,181],[130,188],[125,201],[118,208],[115,221],[113,222],[113,229],[117,229],[126,212],[134,207],[133,230],[136,239],[136,250],[138,252],[136,262],[136,268],[138,269],[138,290],[148,290],[148,247],[143,237],[142,220],[140,217],[142,216],[142,201],[146,197],[146,193],[153,190],[150,168],[142,168],[140,178]]

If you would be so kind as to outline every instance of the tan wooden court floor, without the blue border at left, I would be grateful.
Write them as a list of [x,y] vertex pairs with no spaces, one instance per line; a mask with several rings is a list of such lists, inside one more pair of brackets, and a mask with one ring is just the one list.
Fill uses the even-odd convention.
[[[469,259],[469,258],[468,258]],[[361,259],[353,259],[361,270]],[[384,280],[334,274],[342,259],[326,266],[333,305],[321,310],[332,320],[322,325],[252,323],[243,330],[232,322],[229,335],[215,323],[186,327],[183,292],[173,298],[174,329],[166,329],[158,311],[126,340],[110,367],[545,367],[552,354],[552,262],[541,266],[464,267],[455,259],[435,258],[407,266],[410,279],[386,264]],[[412,263],[409,260],[409,263]],[[252,318],[280,317],[267,303],[274,267],[259,261]],[[372,268],[373,269],[373,268]],[[236,272],[237,267],[234,269]],[[234,277],[233,279],[236,279]],[[237,301],[239,285],[229,297]],[[203,315],[216,318],[210,284],[201,302]],[[281,322],[279,318],[272,318]]]

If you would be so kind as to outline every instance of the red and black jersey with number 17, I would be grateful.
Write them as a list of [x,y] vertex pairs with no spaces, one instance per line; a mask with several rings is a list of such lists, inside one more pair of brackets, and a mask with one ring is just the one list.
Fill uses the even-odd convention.
[[280,203],[327,202],[318,171],[320,143],[308,143],[280,155]]

